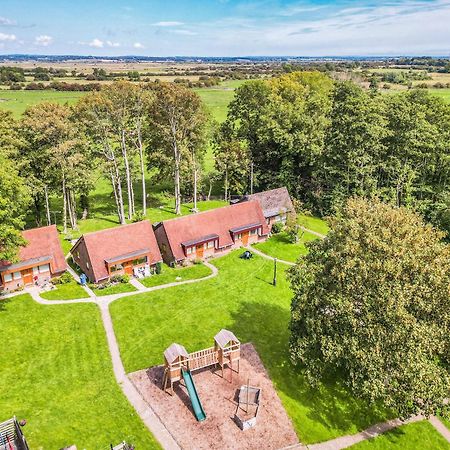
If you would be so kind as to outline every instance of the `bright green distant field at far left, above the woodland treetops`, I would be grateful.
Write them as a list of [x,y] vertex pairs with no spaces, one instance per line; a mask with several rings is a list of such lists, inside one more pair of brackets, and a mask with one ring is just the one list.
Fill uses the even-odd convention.
[[12,111],[14,117],[19,118],[29,106],[43,101],[73,105],[83,95],[85,92],[0,90],[0,108]]

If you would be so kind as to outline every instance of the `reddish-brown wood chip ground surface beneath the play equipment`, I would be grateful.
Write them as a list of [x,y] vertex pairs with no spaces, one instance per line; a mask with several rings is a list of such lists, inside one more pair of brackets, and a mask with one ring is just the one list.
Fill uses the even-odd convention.
[[[176,383],[173,397],[161,389],[163,367],[152,367],[129,375],[145,400],[160,417],[183,449],[279,449],[298,443],[292,423],[252,344],[241,346],[240,373],[230,370],[193,372],[200,401],[206,413],[197,422],[185,387]],[[241,431],[233,420],[241,385],[262,388],[255,428]]]

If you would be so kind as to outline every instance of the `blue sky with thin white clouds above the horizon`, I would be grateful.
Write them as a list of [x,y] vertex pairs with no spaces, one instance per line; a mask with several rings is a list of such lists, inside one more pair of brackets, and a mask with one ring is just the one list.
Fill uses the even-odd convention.
[[0,53],[449,55],[450,0],[0,0]]

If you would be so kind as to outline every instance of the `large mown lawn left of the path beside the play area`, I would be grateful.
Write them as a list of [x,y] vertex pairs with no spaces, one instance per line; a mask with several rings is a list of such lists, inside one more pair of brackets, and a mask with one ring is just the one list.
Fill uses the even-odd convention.
[[157,448],[117,385],[98,307],[0,301],[0,421],[27,419],[30,448]]

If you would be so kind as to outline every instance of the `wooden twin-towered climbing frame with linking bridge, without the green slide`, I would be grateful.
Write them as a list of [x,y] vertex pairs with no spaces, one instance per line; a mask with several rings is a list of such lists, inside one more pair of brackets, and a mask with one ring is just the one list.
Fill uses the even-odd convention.
[[163,390],[173,395],[173,385],[183,378],[184,372],[217,367],[222,369],[222,377],[226,366],[230,368],[231,380],[233,372],[239,373],[239,360],[241,358],[241,343],[238,338],[228,330],[220,330],[214,336],[214,346],[193,353],[188,353],[180,344],[172,344],[164,351],[164,377]]

